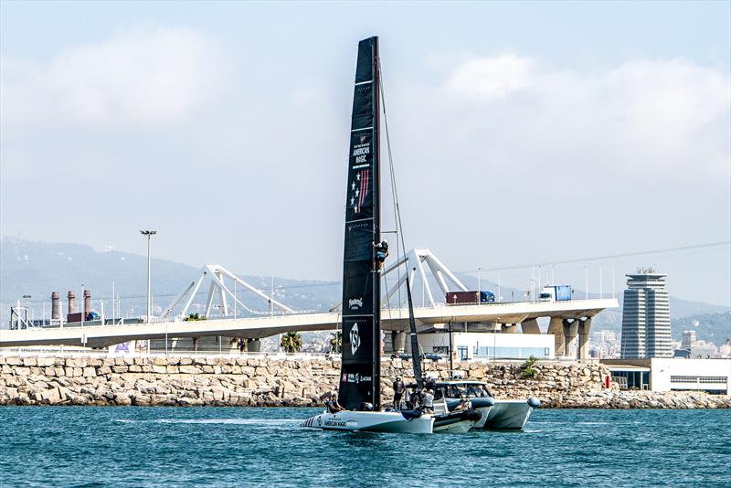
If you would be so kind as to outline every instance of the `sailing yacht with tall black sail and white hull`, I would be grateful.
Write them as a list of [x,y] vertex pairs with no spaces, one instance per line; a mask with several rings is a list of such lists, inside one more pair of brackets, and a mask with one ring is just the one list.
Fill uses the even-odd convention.
[[[343,262],[343,352],[337,402],[302,427],[432,433],[434,418],[381,404],[380,66],[378,37],[358,44],[350,131]],[[408,288],[408,285],[407,285]],[[409,300],[410,305],[410,300]],[[413,313],[411,313],[413,316]],[[413,322],[413,321],[412,321]],[[416,340],[413,325],[412,340]],[[418,347],[414,348],[418,351]],[[420,368],[415,362],[415,377]]]

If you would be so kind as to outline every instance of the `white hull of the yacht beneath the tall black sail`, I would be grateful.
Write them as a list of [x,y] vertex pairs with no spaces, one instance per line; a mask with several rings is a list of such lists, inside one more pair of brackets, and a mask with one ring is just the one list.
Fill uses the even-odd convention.
[[301,427],[323,430],[349,430],[364,432],[392,432],[430,434],[434,418],[425,414],[416,419],[406,419],[400,412],[360,412],[343,410],[337,413],[323,412],[305,419]]

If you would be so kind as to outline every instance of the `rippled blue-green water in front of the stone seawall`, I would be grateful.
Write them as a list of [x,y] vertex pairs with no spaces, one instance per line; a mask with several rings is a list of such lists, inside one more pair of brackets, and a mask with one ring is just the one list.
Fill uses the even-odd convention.
[[731,410],[536,410],[523,432],[303,430],[313,408],[0,408],[0,486],[731,486]]

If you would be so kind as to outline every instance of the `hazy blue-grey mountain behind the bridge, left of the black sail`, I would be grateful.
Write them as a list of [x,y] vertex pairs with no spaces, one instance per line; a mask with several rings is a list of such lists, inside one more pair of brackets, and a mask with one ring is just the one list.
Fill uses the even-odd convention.
[[[200,270],[170,260],[153,259],[152,288],[155,308],[164,308],[198,277]],[[236,273],[235,270],[231,270]],[[239,278],[268,293],[271,278]],[[81,286],[90,288],[93,307],[105,301],[111,310],[112,280],[115,292],[122,297],[122,315],[144,313],[147,293],[147,257],[117,250],[96,250],[90,246],[68,243],[33,242],[24,239],[0,239],[0,326],[8,322],[9,307],[21,297],[31,296],[28,304],[36,318],[46,303],[48,316],[51,292],[58,292],[66,309],[66,295],[73,291],[81,302]],[[196,302],[206,301],[206,288],[198,292]],[[275,298],[297,310],[327,310],[339,302],[340,285],[336,281],[298,281],[274,278]],[[241,290],[238,298],[255,310],[266,311],[266,301]],[[194,311],[195,312],[195,311]]]

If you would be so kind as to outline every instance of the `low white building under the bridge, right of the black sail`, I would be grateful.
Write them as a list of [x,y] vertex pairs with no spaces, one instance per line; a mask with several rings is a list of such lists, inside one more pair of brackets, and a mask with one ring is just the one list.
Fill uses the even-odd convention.
[[[489,332],[452,332],[452,351],[457,360],[554,359],[553,334],[495,334]],[[449,333],[418,334],[424,353],[448,355]]]

